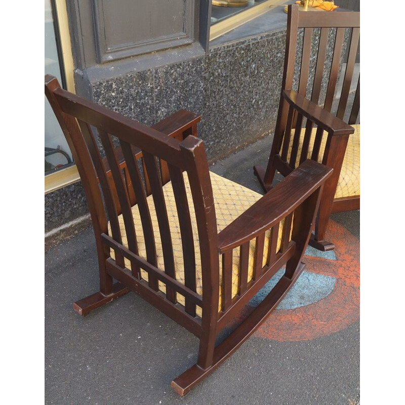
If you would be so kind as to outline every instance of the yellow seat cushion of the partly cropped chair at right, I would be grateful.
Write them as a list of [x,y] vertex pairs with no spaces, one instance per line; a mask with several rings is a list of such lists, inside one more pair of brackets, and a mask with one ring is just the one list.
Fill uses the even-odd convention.
[[[335,198],[349,197],[360,195],[360,124],[352,125],[354,134],[349,136],[347,142],[346,153],[343,159],[342,170],[340,171],[338,185],[336,187]],[[312,154],[313,144],[315,141],[316,128],[312,130],[311,141],[308,147],[308,156]],[[292,133],[294,134],[294,132]],[[300,143],[298,146],[297,163],[301,156],[302,143],[304,141],[305,128],[301,131]],[[292,135],[293,136],[293,135]],[[318,162],[322,163],[323,152],[325,151],[327,136],[322,137],[322,142],[319,150]],[[287,161],[290,160],[292,150],[292,140],[290,141]]]

